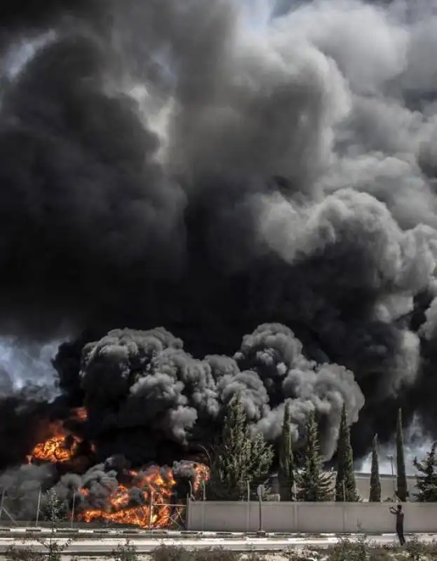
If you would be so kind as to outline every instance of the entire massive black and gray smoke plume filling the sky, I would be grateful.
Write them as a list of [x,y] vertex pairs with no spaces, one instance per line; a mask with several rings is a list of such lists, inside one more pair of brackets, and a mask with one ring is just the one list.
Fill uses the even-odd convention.
[[356,457],[399,406],[436,435],[437,6],[35,6],[1,8],[0,326],[76,340],[5,426],[85,405],[98,461],[171,465],[241,391],[327,459],[343,403]]

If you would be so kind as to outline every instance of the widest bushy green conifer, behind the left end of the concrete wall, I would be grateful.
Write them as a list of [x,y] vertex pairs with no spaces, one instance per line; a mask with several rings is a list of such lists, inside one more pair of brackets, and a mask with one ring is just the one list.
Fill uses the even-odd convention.
[[208,496],[225,501],[245,499],[248,483],[263,482],[272,460],[273,450],[262,434],[250,434],[237,394],[227,407],[222,436],[213,450]]

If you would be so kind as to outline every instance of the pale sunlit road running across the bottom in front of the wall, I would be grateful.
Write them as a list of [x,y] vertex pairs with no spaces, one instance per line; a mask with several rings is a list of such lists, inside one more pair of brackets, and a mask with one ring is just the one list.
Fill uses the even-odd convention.
[[[419,535],[421,541],[432,541],[436,536]],[[139,553],[149,553],[154,548],[165,544],[167,546],[182,546],[187,549],[213,548],[220,547],[234,551],[280,551],[288,548],[311,548],[330,546],[337,541],[336,536],[317,536],[317,537],[290,537],[290,538],[254,538],[241,537],[238,539],[223,538],[201,538],[201,539],[130,539]],[[392,543],[395,539],[394,534],[384,534],[382,536],[372,536],[372,541],[380,545]],[[408,539],[408,536],[407,536]],[[59,543],[65,543],[66,538],[58,538]],[[64,555],[100,555],[111,553],[121,543],[125,543],[126,538],[101,538],[101,539],[81,539],[70,544],[65,550]],[[8,546],[22,546],[22,539],[17,537],[0,538],[0,555],[6,551]],[[45,548],[37,541],[26,541],[25,546],[32,549],[44,551]]]

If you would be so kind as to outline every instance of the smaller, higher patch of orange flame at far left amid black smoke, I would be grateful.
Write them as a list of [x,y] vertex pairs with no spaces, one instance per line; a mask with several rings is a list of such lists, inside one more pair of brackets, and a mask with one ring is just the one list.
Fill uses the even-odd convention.
[[[85,407],[79,407],[73,410],[70,419],[86,419]],[[32,452],[27,456],[27,463],[32,464],[34,461],[50,461],[53,464],[64,464],[74,457],[81,439],[76,435],[66,431],[62,421],[54,421],[48,427],[48,433],[51,438],[45,442],[37,444]]]

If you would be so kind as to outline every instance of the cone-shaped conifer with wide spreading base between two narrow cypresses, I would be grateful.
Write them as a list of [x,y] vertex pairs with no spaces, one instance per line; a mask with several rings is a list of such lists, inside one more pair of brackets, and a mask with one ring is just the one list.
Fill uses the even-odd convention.
[[314,411],[307,417],[307,448],[304,454],[302,471],[299,475],[300,501],[330,501],[332,499],[332,480],[330,473],[323,473],[323,459],[318,445],[318,428]]

